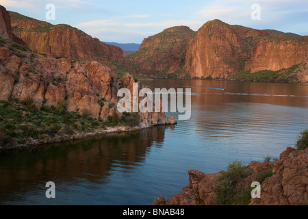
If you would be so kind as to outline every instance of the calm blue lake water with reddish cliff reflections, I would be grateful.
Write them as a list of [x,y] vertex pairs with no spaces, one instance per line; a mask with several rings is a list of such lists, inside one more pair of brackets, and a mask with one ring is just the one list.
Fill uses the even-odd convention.
[[[279,157],[308,128],[308,83],[142,83],[153,89],[192,88],[190,120],[0,153],[0,204],[151,205],[160,195],[181,192],[189,169],[211,173],[234,159],[248,164]],[[56,198],[45,197],[47,181],[55,182]]]

